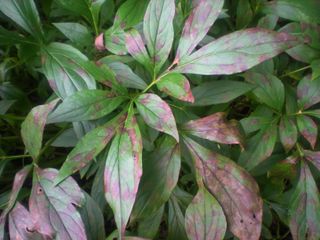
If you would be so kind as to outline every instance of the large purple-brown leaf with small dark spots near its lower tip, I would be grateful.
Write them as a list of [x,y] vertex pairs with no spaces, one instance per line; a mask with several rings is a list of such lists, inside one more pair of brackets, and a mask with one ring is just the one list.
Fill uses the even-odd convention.
[[184,137],[197,171],[226,215],[230,231],[240,239],[259,239],[262,223],[262,199],[259,187],[243,168]]

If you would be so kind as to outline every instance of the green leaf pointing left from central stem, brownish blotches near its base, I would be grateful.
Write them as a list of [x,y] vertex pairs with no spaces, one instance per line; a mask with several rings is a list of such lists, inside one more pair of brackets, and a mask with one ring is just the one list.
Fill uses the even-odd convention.
[[101,118],[115,110],[124,97],[104,90],[82,90],[66,97],[49,115],[48,123],[79,122]]

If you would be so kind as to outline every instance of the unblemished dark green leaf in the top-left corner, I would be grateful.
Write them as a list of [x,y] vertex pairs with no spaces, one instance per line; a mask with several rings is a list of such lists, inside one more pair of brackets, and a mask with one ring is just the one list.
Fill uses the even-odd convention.
[[33,0],[1,0],[0,11],[37,40],[43,41],[39,13]]

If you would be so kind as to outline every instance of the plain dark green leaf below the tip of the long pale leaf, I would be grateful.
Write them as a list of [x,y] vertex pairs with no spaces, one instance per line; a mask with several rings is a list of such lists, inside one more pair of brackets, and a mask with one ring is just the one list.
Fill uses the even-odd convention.
[[282,111],[284,104],[284,85],[280,79],[271,74],[246,73],[246,80],[256,85],[253,94],[259,101],[269,107]]

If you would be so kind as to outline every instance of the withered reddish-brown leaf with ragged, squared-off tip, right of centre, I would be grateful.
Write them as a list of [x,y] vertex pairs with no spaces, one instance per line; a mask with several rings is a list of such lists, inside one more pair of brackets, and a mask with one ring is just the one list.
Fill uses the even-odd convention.
[[223,144],[240,144],[241,135],[236,121],[228,121],[224,112],[192,120],[183,125],[185,133]]

